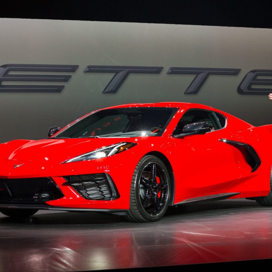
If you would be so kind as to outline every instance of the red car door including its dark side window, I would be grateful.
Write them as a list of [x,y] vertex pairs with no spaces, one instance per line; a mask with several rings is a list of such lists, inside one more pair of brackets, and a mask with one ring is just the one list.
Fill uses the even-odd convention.
[[180,119],[173,136],[195,121],[208,122],[210,131],[173,138],[180,164],[179,199],[222,193],[240,177],[239,160],[242,154],[237,148],[220,141],[231,135],[224,128],[224,121],[219,121],[214,112],[188,110]]

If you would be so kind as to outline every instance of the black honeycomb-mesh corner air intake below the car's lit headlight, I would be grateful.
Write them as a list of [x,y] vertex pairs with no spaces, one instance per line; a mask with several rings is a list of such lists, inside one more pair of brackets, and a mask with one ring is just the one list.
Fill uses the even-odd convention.
[[92,200],[117,199],[119,193],[112,178],[105,173],[64,176],[63,185],[72,186],[82,197]]

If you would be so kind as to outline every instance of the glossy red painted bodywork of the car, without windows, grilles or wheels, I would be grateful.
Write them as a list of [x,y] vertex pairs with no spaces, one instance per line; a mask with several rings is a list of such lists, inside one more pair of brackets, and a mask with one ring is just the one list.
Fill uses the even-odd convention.
[[[173,173],[170,175],[170,205],[228,193],[237,193],[229,198],[249,198],[266,196],[270,192],[271,147],[267,144],[267,139],[271,138],[272,125],[254,127],[228,113],[195,103],[127,104],[110,108],[133,107],[167,107],[178,110],[164,133],[157,137],[15,140],[0,144],[0,178],[52,178],[64,196],[45,204],[63,210],[128,210],[135,168],[141,158],[152,154],[164,162],[169,173]],[[172,133],[180,118],[190,109],[204,109],[222,114],[226,117],[226,125],[205,134],[174,138]],[[246,151],[220,139],[250,145],[261,160],[260,165],[252,172]],[[81,154],[121,142],[136,145],[110,157],[63,163]],[[21,166],[15,167],[15,164]],[[109,174],[120,197],[112,200],[90,200],[80,196],[73,187],[63,185],[66,182],[63,176],[95,173]]]

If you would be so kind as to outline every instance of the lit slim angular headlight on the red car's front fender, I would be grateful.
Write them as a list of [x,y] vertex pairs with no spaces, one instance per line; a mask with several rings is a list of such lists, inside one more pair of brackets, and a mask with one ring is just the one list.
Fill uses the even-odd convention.
[[126,143],[126,142],[119,143],[119,144],[112,144],[112,145],[109,145],[106,147],[96,149],[96,150],[91,151],[89,153],[79,155],[79,156],[74,157],[70,160],[66,160],[63,163],[81,161],[81,160],[93,160],[93,159],[109,157],[109,156],[118,154],[122,151],[128,150],[129,148],[133,147],[134,145],[136,145],[136,144],[135,143]]

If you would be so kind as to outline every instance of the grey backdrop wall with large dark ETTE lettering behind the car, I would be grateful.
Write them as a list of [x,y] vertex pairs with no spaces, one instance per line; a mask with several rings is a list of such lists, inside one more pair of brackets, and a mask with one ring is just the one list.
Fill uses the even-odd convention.
[[[272,123],[271,29],[17,18],[0,24],[0,142],[46,138],[51,126],[134,102],[197,102],[253,125]],[[132,71],[111,89],[124,66],[144,73]],[[171,67],[182,74],[167,73]],[[200,88],[189,92],[197,74]]]

